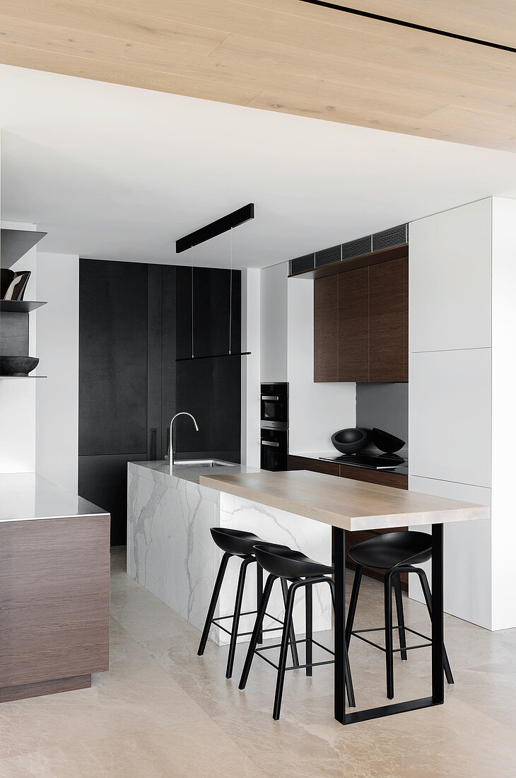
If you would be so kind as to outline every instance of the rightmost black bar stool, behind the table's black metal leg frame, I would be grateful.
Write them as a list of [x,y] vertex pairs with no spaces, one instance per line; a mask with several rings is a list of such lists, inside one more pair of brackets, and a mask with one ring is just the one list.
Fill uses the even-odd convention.
[[[426,532],[399,531],[379,534],[375,538],[364,540],[361,543],[352,545],[349,550],[350,558],[357,563],[357,569],[354,574],[353,590],[351,591],[350,607],[347,612],[346,624],[346,643],[349,647],[351,635],[364,640],[371,646],[385,651],[385,664],[387,671],[387,696],[389,699],[394,697],[394,653],[399,652],[402,659],[407,659],[407,651],[413,648],[424,648],[431,646],[431,638],[415,629],[410,629],[405,625],[403,615],[403,598],[401,594],[401,581],[399,573],[416,573],[421,582],[424,600],[427,604],[428,613],[432,618],[432,595],[428,585],[427,574],[420,567],[413,565],[427,562],[432,555],[432,538]],[[375,569],[385,570],[384,578],[384,608],[385,608],[385,627],[375,629],[353,629],[355,612],[357,610],[358,592],[362,580],[364,567],[373,567]],[[394,585],[394,594],[396,598],[396,612],[398,624],[392,626],[392,585]],[[362,633],[379,632],[385,629],[385,648],[378,646],[371,640],[364,638]],[[399,648],[392,647],[392,630],[397,629],[399,634]],[[413,633],[430,643],[421,643],[418,646],[406,645],[406,632]],[[453,683],[448,654],[446,654],[445,643],[442,646],[443,667],[445,669],[446,680],[448,684]]]

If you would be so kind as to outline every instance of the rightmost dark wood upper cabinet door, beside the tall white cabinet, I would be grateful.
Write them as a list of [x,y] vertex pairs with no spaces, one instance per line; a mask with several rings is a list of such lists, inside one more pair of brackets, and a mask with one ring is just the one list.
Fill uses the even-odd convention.
[[369,268],[370,381],[406,380],[406,264],[400,258]]

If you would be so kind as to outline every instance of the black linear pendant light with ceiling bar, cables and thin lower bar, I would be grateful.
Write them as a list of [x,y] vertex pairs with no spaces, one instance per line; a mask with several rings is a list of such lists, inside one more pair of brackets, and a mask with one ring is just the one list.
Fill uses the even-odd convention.
[[194,265],[192,264],[191,273],[191,309],[192,309],[192,356],[182,357],[176,359],[176,362],[191,362],[192,359],[218,359],[225,356],[248,356],[250,351],[232,352],[231,350],[231,335],[232,335],[232,301],[233,301],[233,233],[232,230],[235,226],[243,224],[254,219],[254,204],[244,205],[243,208],[229,213],[227,216],[222,216],[221,219],[217,219],[215,222],[208,224],[205,227],[201,227],[200,230],[196,230],[194,233],[190,233],[180,240],[176,240],[176,254],[180,254],[182,251],[186,251],[188,248],[198,246],[204,243],[206,240],[210,240],[217,235],[228,232],[230,233],[230,249],[229,249],[229,337],[228,337],[228,352],[227,354],[209,354],[207,356],[195,356],[194,353]]

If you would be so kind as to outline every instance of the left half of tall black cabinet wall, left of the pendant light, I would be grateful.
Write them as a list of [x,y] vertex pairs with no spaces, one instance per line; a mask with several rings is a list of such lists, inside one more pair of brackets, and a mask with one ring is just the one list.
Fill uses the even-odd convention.
[[126,538],[127,462],[162,459],[176,408],[176,268],[79,263],[78,491]]

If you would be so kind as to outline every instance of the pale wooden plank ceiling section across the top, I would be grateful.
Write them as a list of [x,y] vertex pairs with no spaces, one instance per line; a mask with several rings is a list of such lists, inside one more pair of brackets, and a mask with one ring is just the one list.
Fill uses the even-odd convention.
[[[514,0],[347,5],[516,47]],[[0,0],[0,62],[516,151],[516,54],[301,0]]]

